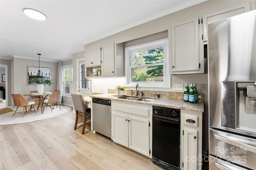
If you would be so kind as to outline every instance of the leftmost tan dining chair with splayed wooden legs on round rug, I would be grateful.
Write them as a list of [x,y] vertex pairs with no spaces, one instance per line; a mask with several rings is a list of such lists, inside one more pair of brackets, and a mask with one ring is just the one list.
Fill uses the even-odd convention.
[[[30,109],[31,107],[33,107],[35,113],[36,113],[36,109],[34,107],[35,102],[34,101],[27,101],[21,94],[11,94],[13,102],[14,102],[14,106],[17,106],[16,110],[14,111],[12,117],[14,117],[16,111],[18,110],[19,106],[23,106],[23,114],[22,117],[24,117],[24,111],[26,109],[26,113],[27,113],[27,106],[30,105]],[[25,114],[26,114],[25,113]]]

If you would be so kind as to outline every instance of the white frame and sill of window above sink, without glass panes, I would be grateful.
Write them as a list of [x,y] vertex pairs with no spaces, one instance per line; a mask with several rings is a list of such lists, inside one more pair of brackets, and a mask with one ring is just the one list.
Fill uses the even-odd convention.
[[[143,51],[147,49],[153,49],[157,47],[164,47],[164,63],[157,64],[146,64],[142,66],[132,66],[132,52]],[[139,84],[140,87],[150,87],[150,88],[170,88],[170,79],[169,74],[169,52],[168,52],[168,38],[158,39],[155,41],[150,41],[147,43],[142,43],[138,45],[133,45],[125,48],[125,66],[126,66],[126,86],[134,87],[136,84]],[[157,66],[163,65],[164,71],[164,81],[163,82],[132,82],[132,68],[146,67],[146,66]]]

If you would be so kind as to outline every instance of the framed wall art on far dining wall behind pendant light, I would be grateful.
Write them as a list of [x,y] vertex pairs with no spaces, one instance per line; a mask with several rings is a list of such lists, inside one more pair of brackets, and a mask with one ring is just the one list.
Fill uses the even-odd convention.
[[40,75],[38,75],[38,67],[28,66],[28,85],[36,85],[34,80],[51,80],[51,69],[40,67]]

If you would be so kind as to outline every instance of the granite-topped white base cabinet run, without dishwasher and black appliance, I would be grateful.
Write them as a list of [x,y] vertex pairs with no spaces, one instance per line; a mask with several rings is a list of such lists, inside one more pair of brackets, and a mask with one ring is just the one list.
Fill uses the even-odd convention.
[[[161,92],[160,92],[161,93]],[[202,168],[202,113],[203,94],[196,104],[184,102],[182,92],[164,92],[168,98],[156,98],[158,92],[146,92],[147,96],[125,96],[114,93],[97,94],[93,98],[111,100],[111,139],[120,145],[152,158],[152,139],[154,123],[153,107],[180,110],[180,169]],[[152,94],[152,95],[149,95]],[[172,98],[172,96],[175,96]],[[144,100],[144,101],[143,101]],[[91,102],[93,105],[93,103]],[[167,113],[166,113],[167,114]],[[92,119],[93,119],[92,109]],[[93,131],[93,123],[92,123]],[[172,131],[170,129],[170,131]],[[167,133],[167,132],[166,132]],[[171,153],[170,153],[171,154]],[[186,159],[186,160],[185,160]],[[187,161],[190,160],[190,161]]]

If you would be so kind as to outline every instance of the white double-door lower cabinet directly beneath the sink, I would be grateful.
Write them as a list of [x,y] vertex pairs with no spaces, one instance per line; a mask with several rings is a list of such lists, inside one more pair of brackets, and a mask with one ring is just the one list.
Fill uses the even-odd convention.
[[111,111],[111,139],[120,145],[150,156],[152,106],[112,101]]

